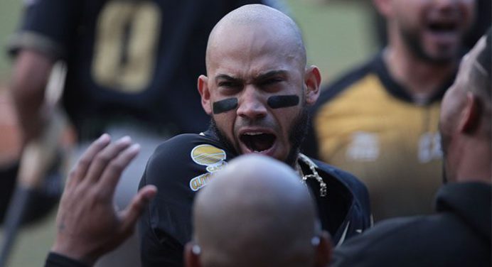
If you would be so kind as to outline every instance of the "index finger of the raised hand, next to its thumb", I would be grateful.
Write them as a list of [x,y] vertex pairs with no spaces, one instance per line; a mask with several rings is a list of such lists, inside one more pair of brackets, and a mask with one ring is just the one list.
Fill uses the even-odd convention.
[[139,151],[140,145],[135,143],[119,153],[116,158],[113,158],[111,162],[109,162],[102,173],[99,182],[100,189],[105,191],[105,194],[111,196],[114,194],[114,188],[116,187],[119,178],[121,178],[123,170],[128,167],[129,163],[137,156]]

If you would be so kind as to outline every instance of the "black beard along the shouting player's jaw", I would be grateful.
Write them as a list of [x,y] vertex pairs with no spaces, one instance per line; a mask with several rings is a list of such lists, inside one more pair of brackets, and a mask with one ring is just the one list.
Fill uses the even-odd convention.
[[[297,157],[299,156],[299,148],[301,147],[302,142],[304,141],[304,137],[307,133],[309,121],[309,110],[304,107],[299,115],[294,119],[294,124],[289,131],[289,141],[291,143],[291,150],[285,158],[284,163],[289,166],[294,167],[294,163],[297,161]],[[235,150],[232,143],[228,141],[228,138],[225,137],[225,134],[218,128],[215,120],[210,119],[210,130],[215,133],[215,136],[219,139],[219,142],[224,146],[224,148],[228,151],[235,153],[235,155],[240,155],[238,151]]]

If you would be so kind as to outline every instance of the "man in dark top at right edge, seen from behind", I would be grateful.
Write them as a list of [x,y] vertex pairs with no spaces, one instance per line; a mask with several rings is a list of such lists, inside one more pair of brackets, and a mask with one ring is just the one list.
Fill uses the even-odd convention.
[[444,185],[427,216],[387,219],[335,250],[332,266],[491,266],[492,30],[442,100]]

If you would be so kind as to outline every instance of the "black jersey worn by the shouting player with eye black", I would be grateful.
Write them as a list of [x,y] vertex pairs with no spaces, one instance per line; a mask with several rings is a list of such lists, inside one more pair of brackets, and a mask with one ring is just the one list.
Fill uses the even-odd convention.
[[[158,192],[139,221],[143,266],[183,266],[183,246],[192,235],[193,198],[212,173],[237,156],[219,140],[210,130],[182,134],[164,142],[150,158],[140,187],[156,185]],[[334,244],[370,227],[368,192],[361,182],[304,155],[298,164]]]

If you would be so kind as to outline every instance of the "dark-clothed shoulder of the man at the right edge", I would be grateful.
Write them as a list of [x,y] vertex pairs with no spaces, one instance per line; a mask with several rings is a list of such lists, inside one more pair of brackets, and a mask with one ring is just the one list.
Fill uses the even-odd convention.
[[336,248],[331,266],[490,266],[480,237],[452,212],[387,219]]

